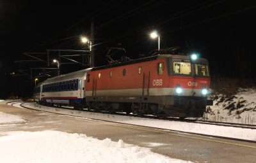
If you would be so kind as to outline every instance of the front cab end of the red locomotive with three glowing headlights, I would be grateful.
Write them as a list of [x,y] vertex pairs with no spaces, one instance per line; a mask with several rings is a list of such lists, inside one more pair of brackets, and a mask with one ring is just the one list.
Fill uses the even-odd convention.
[[170,117],[202,117],[207,105],[211,76],[206,59],[192,59],[188,55],[159,55],[166,61],[170,90],[169,102],[159,109]]

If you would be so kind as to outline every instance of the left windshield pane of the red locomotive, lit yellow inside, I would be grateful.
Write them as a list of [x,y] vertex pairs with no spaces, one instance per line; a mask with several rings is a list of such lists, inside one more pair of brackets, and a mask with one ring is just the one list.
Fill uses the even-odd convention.
[[191,74],[191,64],[189,62],[173,62],[173,73]]

